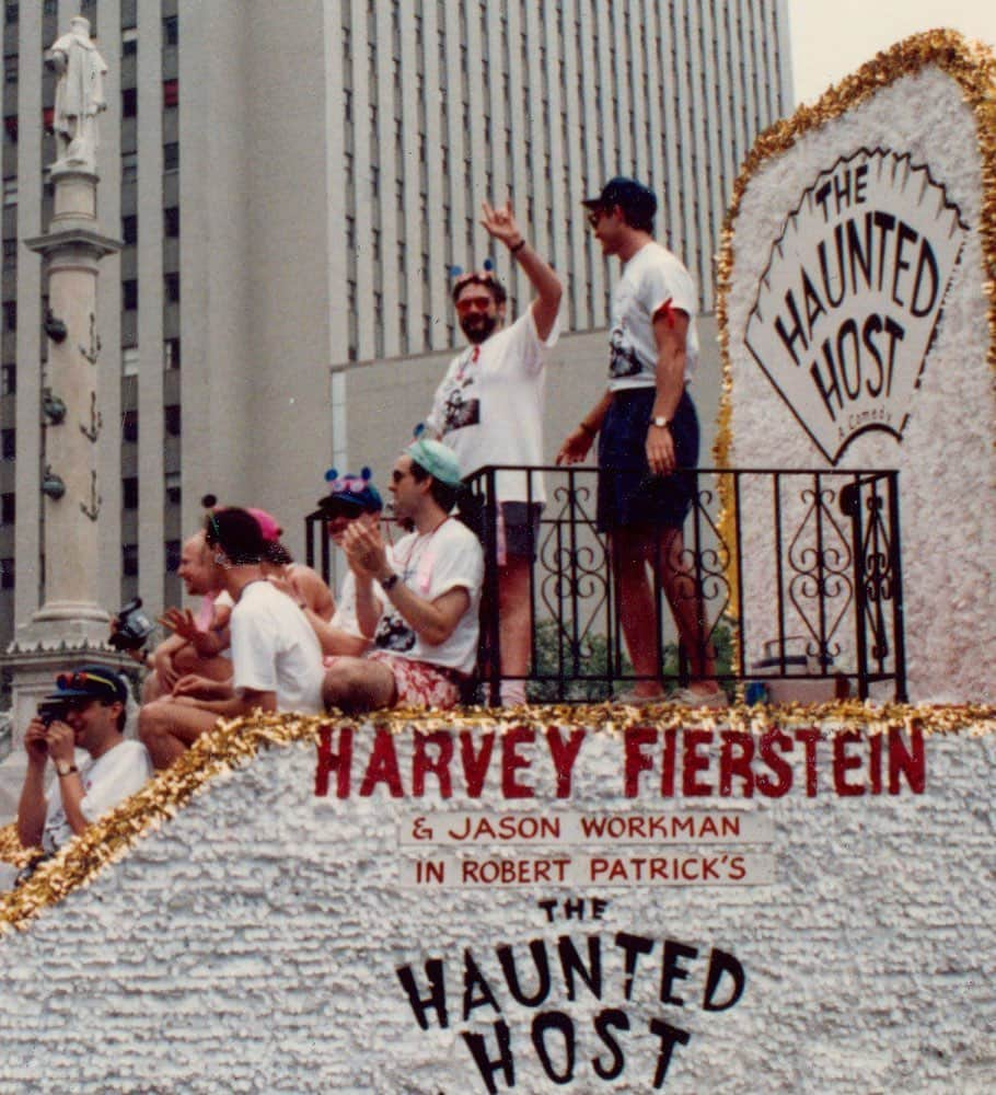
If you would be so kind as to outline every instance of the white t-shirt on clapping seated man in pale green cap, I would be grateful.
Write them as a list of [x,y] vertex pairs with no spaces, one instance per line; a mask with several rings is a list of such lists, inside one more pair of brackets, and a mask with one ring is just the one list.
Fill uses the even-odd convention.
[[484,553],[477,538],[455,518],[448,518],[435,531],[413,532],[394,548],[395,568],[413,592],[427,601],[451,589],[463,588],[471,603],[452,635],[437,646],[420,638],[390,602],[373,637],[374,648],[413,661],[428,661],[462,673],[474,670],[477,661],[477,609],[484,580]]

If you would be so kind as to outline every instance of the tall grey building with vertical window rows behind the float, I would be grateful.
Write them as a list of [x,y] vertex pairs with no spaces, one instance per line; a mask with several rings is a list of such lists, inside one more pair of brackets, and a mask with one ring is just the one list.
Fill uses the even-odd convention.
[[[459,341],[451,269],[489,253],[482,199],[508,195],[564,275],[559,354],[589,385],[616,272],[578,203],[609,176],[658,193],[659,234],[709,312],[738,166],[790,106],[785,8],[2,4],[0,642],[42,599],[46,431],[77,428],[42,412],[44,272],[21,242],[51,212],[43,53],[72,15],[111,66],[99,212],[124,244],[102,264],[86,347],[100,348],[101,593],[108,610],[135,593],[155,610],[179,600],[204,493],[271,509],[300,549],[326,468],[386,471]],[[514,313],[528,283],[495,257]]]

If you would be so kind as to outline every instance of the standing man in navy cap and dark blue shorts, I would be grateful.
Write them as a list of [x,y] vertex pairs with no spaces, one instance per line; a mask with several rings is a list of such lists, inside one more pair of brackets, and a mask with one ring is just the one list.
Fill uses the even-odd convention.
[[602,253],[622,277],[612,296],[609,390],[581,419],[557,463],[584,459],[599,437],[598,522],[610,535],[623,634],[637,682],[634,700],[663,696],[659,625],[647,577],[659,575],[692,667],[690,687],[672,695],[698,706],[725,703],[702,591],[683,562],[682,527],[695,496],[698,419],[686,390],[698,361],[692,276],[653,240],[657,198],[616,177],[582,203]]

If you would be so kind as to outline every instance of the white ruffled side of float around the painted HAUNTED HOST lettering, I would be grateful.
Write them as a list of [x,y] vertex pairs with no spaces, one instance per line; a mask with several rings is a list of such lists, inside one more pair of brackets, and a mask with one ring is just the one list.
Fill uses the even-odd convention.
[[[368,739],[369,740],[369,739]],[[410,793],[410,742],[398,736]],[[357,756],[366,750],[358,742]],[[589,733],[567,800],[509,803],[493,766],[485,795],[461,780],[441,802],[316,799],[313,747],[264,752],[217,781],[161,831],[23,933],[0,940],[0,1090],[8,1092],[484,1091],[461,1029],[489,1029],[489,1008],[459,1019],[455,980],[470,948],[512,1029],[516,1091],[651,1090],[657,1039],[648,1016],[691,1033],[667,1091],[991,1092],[996,1084],[992,958],[992,736],[927,739],[927,785],[896,796],[839,798],[797,785],[780,799],[661,798],[647,784],[619,794],[619,739]],[[520,773],[553,785],[546,750]],[[715,765],[715,749],[713,750]],[[714,769],[715,771],[715,769]],[[713,776],[715,782],[715,774]],[[974,804],[974,805],[973,805]],[[761,811],[774,823],[772,886],[681,889],[553,886],[401,890],[398,819],[438,810],[661,809]],[[756,850],[756,849],[755,849]],[[506,855],[512,854],[506,850]],[[545,898],[599,896],[601,921],[545,922]],[[633,999],[623,993],[616,932],[653,938]],[[534,1013],[510,1002],[495,948],[526,955],[531,940],[598,932],[605,989],[543,1008],[576,1023],[576,1081],[545,1080],[530,1040]],[[683,1007],[657,1000],[663,941],[698,949],[675,982]],[[706,1013],[705,957],[742,963],[746,987],[729,1011]],[[447,1030],[422,1033],[395,967],[445,959]],[[523,964],[523,981],[532,984]],[[646,970],[646,972],[644,972]],[[590,1016],[625,1010],[625,1071],[598,1081],[604,1046]],[[640,1033],[644,1031],[644,1033]],[[556,1059],[556,1053],[555,1053]],[[499,1090],[506,1090],[499,1085]]]

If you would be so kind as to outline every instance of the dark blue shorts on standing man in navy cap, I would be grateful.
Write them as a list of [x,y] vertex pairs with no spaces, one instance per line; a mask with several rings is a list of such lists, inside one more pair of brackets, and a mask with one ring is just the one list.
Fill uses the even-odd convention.
[[680,529],[695,498],[698,417],[687,390],[682,392],[671,437],[679,471],[655,475],[647,464],[647,429],[653,412],[653,388],[626,388],[612,396],[599,434],[600,532],[640,526]]

